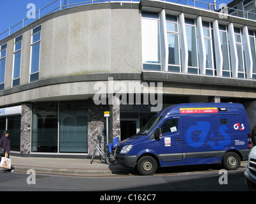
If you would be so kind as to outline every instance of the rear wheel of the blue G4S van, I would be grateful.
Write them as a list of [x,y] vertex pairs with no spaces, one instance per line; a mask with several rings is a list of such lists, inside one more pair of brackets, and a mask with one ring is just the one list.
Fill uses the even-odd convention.
[[235,152],[227,152],[222,158],[222,164],[226,170],[237,170],[241,164],[241,159]]

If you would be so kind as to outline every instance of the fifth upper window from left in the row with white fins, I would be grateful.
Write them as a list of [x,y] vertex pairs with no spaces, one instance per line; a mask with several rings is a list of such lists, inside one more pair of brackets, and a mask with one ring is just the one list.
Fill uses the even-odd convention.
[[221,51],[223,55],[223,77],[231,77],[230,76],[230,61],[229,61],[229,51],[228,51],[228,35],[227,28],[225,25],[219,25],[220,29],[220,43],[221,43]]

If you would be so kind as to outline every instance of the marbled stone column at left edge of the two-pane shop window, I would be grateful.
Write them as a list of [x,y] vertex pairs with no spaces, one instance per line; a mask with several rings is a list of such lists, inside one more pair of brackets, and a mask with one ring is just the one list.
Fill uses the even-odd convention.
[[30,153],[31,104],[22,104],[20,118],[20,154]]

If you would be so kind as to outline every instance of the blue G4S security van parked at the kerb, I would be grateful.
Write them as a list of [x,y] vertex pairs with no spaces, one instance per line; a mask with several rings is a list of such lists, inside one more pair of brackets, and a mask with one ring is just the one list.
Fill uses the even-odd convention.
[[140,132],[120,142],[116,161],[152,175],[157,168],[222,163],[236,170],[252,149],[244,106],[238,103],[189,103],[170,106]]

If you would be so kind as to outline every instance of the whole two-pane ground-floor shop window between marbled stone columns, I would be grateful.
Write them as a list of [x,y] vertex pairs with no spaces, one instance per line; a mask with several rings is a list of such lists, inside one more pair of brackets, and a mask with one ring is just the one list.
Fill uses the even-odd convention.
[[86,101],[33,103],[32,152],[88,152]]

